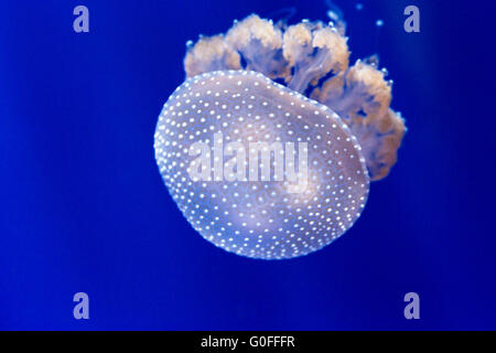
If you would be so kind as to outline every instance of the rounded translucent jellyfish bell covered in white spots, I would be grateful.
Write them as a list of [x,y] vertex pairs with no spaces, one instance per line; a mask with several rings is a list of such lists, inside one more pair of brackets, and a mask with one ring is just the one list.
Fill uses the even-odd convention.
[[[235,157],[226,142],[237,143]],[[257,149],[252,158],[260,142],[274,153]],[[339,117],[251,71],[186,79],[159,118],[155,152],[195,229],[249,257],[295,257],[327,245],[353,225],[368,193],[360,147]],[[263,156],[271,167],[265,179]],[[276,164],[281,179],[271,173]]]

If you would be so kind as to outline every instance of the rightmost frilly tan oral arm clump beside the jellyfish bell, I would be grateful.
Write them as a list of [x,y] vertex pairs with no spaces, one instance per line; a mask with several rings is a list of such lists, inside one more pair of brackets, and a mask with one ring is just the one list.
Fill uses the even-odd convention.
[[[324,83],[313,98],[334,109],[358,139],[373,181],[385,178],[396,163],[405,121],[389,108],[391,85],[376,61],[357,61],[344,77],[341,90]],[[336,94],[338,93],[338,94]]]

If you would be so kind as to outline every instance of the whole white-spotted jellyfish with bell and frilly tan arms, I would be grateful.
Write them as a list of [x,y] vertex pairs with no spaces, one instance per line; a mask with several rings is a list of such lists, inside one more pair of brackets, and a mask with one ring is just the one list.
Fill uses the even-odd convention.
[[346,233],[406,131],[377,58],[349,66],[344,25],[256,14],[187,46],[154,150],[188,223],[258,259],[303,256]]

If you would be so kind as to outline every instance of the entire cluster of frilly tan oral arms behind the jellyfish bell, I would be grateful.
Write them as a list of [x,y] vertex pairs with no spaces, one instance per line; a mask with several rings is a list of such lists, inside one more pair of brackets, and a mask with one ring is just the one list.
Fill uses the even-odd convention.
[[406,127],[389,108],[386,71],[373,60],[349,66],[347,38],[332,24],[273,24],[252,14],[226,34],[202,36],[188,45],[184,68],[187,77],[247,69],[283,82],[342,117],[362,146],[371,180],[385,178],[396,163]]

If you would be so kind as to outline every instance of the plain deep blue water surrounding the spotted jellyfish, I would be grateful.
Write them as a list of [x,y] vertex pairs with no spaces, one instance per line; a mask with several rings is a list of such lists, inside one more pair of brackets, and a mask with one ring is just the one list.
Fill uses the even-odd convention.
[[[495,9],[362,2],[338,4],[353,60],[378,52],[395,81],[399,162],[333,245],[262,261],[191,228],[153,131],[186,40],[287,7],[325,20],[324,1],[2,1],[0,329],[496,329]],[[421,33],[402,30],[408,4]],[[409,291],[421,320],[403,318]]]

